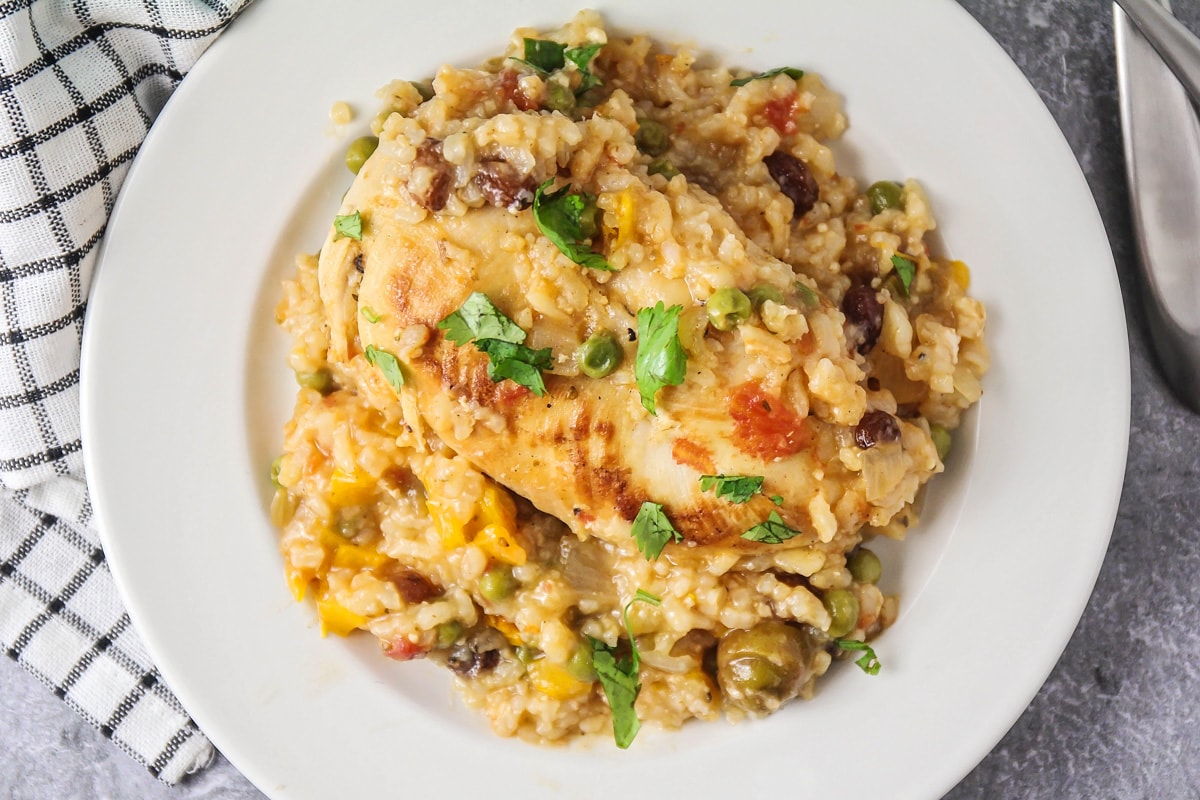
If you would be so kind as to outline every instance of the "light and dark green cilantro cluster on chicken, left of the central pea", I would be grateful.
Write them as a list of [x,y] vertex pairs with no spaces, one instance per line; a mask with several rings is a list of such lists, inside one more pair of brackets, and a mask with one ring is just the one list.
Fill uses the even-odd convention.
[[438,323],[438,330],[460,347],[474,342],[487,354],[487,377],[496,383],[508,379],[538,397],[546,393],[541,373],[553,367],[550,348],[524,347],[526,332],[482,291],[473,291],[458,311]]

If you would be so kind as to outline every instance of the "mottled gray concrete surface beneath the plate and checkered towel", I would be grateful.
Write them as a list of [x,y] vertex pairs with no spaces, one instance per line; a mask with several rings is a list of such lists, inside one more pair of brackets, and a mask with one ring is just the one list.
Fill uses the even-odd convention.
[[[961,4],[1037,88],[1096,196],[1126,294],[1133,429],[1112,541],[1074,637],[1026,712],[947,798],[1200,798],[1200,417],[1165,389],[1138,306],[1111,10],[1103,0]],[[1176,6],[1200,30],[1200,4]],[[157,783],[0,658],[0,798],[260,796],[221,758],[178,788]]]

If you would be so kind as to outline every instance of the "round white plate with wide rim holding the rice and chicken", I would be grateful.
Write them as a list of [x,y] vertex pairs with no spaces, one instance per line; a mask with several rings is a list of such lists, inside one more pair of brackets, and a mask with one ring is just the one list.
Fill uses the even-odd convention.
[[[842,666],[769,720],[647,729],[629,752],[538,748],[493,738],[432,666],[322,639],[284,587],[265,511],[293,391],[280,279],[320,245],[374,90],[574,12],[550,0],[259,0],[170,101],[121,193],[84,342],[88,474],[133,620],[200,727],[278,799],[937,796],[1050,672],[1115,518],[1128,349],[1092,197],[1032,89],[952,2],[596,5],[613,28],[745,67],[821,72],[851,119],[842,169],[919,178],[972,266],[995,366],[888,561],[902,610],[882,673]],[[360,116],[332,136],[338,100]]]

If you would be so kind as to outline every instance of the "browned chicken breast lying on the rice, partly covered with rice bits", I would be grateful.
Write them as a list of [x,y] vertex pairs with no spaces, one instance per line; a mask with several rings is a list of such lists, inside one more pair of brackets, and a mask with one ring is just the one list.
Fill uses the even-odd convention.
[[[743,534],[767,521],[796,533],[787,546],[886,524],[941,469],[928,431],[871,408],[841,311],[696,182],[649,175],[635,130],[614,107],[583,121],[499,114],[434,142],[392,115],[343,200],[361,239],[330,231],[322,251],[331,360],[394,355],[410,426],[580,536],[628,541],[648,501],[700,546],[754,548]],[[761,161],[745,169],[774,186]],[[574,263],[539,228],[527,205],[551,179],[595,198],[593,248],[611,271]],[[758,302],[718,330],[706,303],[726,288]],[[473,293],[524,330],[527,347],[550,348],[544,396],[493,380],[485,353],[439,329]],[[647,345],[637,314],[660,302],[679,307],[686,373],[658,390],[650,413],[635,375]],[[589,378],[576,354],[601,330],[624,357]],[[878,414],[887,420],[864,443]],[[706,475],[763,482],[734,503],[704,491]]]

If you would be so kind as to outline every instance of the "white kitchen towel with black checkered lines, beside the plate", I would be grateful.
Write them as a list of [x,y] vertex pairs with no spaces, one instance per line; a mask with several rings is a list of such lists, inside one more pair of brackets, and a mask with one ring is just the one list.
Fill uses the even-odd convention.
[[79,343],[138,145],[248,0],[0,0],[0,648],[167,783],[212,746],[151,663],[91,522]]

